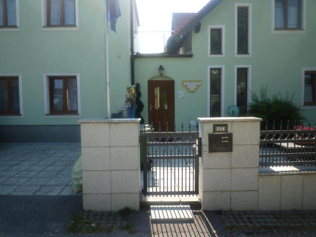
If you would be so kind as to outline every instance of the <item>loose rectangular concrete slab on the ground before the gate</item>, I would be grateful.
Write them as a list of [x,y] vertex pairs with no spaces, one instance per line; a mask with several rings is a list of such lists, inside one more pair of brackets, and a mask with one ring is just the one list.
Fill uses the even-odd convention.
[[152,205],[150,219],[155,221],[193,221],[190,205]]

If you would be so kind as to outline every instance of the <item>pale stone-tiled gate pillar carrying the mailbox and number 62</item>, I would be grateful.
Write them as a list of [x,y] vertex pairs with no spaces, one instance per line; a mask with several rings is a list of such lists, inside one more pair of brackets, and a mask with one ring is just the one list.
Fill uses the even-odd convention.
[[[199,196],[203,210],[257,210],[260,121],[254,117],[198,118],[202,137]],[[233,133],[232,152],[208,152],[214,124]]]

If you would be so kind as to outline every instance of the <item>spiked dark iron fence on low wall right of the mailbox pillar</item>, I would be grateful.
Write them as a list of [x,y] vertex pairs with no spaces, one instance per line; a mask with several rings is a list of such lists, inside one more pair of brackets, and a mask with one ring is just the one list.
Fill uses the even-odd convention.
[[276,130],[273,121],[272,130],[260,131],[259,166],[315,166],[316,165],[316,123],[311,126],[310,120],[306,126],[294,123],[283,129],[282,121]]

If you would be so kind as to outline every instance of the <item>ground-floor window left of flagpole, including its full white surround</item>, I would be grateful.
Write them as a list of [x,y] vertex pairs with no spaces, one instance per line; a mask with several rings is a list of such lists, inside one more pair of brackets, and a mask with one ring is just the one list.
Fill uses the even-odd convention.
[[45,116],[80,117],[79,73],[44,73]]

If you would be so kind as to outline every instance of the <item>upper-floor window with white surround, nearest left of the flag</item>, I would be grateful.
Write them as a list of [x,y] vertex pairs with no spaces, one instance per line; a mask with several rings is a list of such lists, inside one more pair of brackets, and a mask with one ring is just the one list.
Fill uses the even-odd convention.
[[78,0],[42,0],[43,30],[76,30],[78,23]]

